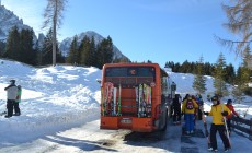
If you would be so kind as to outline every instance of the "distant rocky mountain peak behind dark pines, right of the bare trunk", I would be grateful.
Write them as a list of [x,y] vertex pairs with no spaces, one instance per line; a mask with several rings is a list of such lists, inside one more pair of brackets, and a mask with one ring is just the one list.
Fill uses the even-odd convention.
[[[83,33],[77,35],[77,38],[78,38],[78,39],[77,39],[77,43],[78,43],[78,45],[81,44],[81,40],[84,38],[84,36],[88,36],[90,39],[91,39],[92,36],[93,36],[93,37],[94,37],[94,43],[95,43],[95,44],[99,44],[99,43],[101,43],[101,42],[104,39],[104,37],[101,36],[100,34],[98,34],[98,33],[95,33],[95,32],[93,32],[93,31],[88,31],[88,32],[83,32]],[[64,39],[64,40],[60,43],[60,45],[59,45],[59,50],[61,51],[61,54],[62,54],[65,57],[66,57],[66,56],[68,55],[68,52],[69,52],[69,48],[70,48],[70,45],[71,45],[73,38],[75,38],[75,36],[68,37],[68,38]],[[116,57],[116,58],[123,58],[123,57],[125,57],[125,56],[119,51],[119,49],[118,49],[115,45],[113,46],[113,51],[114,51],[114,58],[115,58],[115,57]]]

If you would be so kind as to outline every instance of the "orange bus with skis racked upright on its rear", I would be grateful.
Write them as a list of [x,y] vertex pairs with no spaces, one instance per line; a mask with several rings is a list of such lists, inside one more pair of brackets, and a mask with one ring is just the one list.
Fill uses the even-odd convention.
[[104,64],[100,128],[165,130],[174,90],[158,63]]

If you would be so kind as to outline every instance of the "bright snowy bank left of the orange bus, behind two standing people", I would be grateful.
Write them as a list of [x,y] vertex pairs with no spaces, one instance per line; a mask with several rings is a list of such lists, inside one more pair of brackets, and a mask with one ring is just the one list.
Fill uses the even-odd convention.
[[[11,128],[18,133],[36,131],[28,134],[36,138],[98,117],[100,85],[95,79],[101,78],[101,71],[96,68],[57,66],[34,69],[4,60],[0,64],[0,111],[5,110],[4,87],[9,80],[15,79],[16,84],[23,86],[22,116],[8,120],[0,118],[3,122],[0,123],[0,136]],[[16,141],[23,141],[23,138]]]

